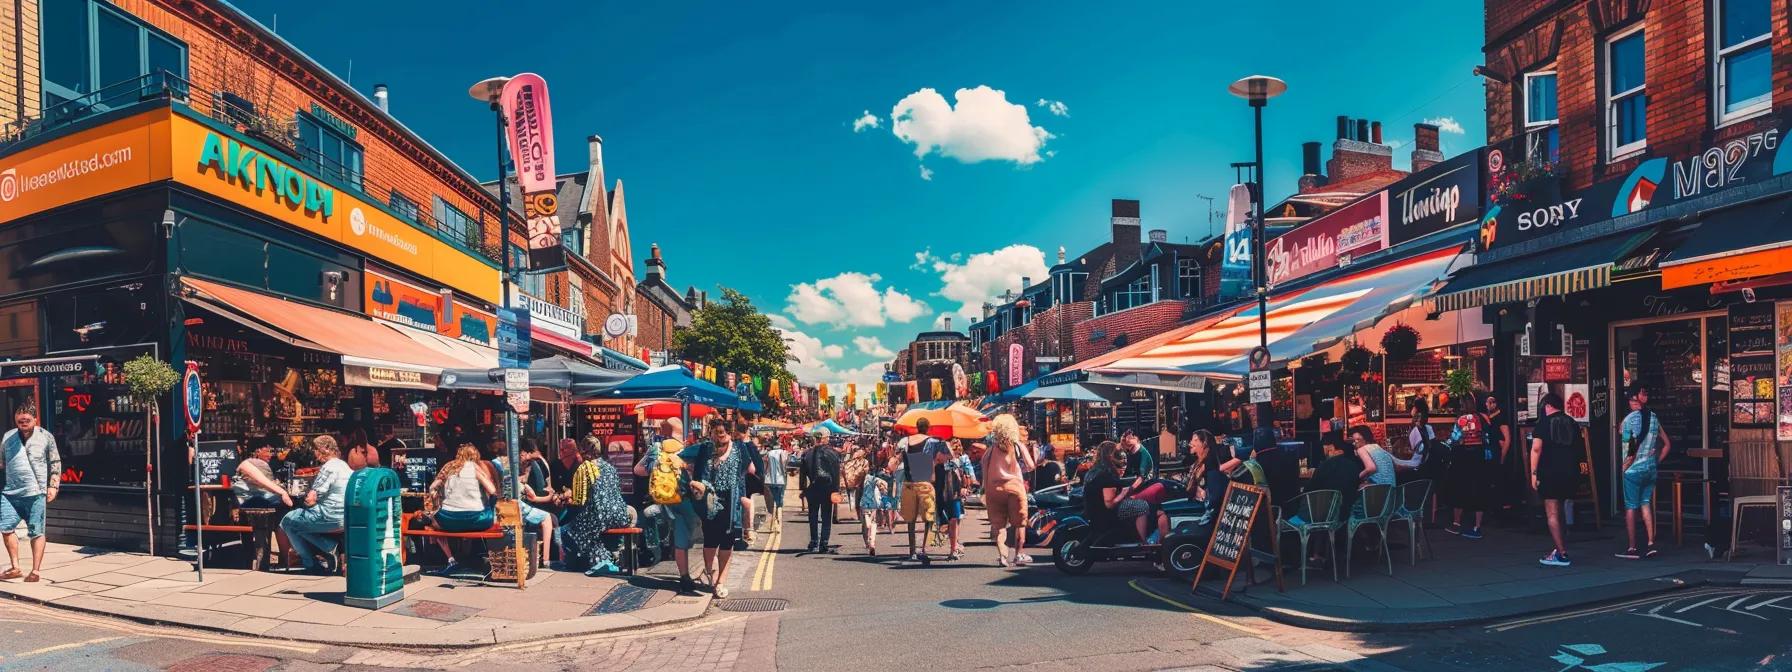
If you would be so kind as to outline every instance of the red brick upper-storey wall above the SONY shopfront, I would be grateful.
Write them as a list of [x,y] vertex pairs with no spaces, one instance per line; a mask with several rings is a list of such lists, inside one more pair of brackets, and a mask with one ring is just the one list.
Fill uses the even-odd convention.
[[[1561,158],[1570,188],[1615,179],[1638,159],[1606,163],[1602,138],[1606,115],[1598,91],[1602,39],[1616,29],[1643,22],[1649,82],[1650,156],[1692,156],[1726,140],[1770,129],[1765,115],[1715,127],[1711,66],[1711,9],[1708,2],[1645,0],[1487,0],[1487,140],[1503,142],[1520,124],[1525,72],[1557,72]],[[1787,4],[1770,4],[1774,52],[1774,102],[1792,100],[1792,30]],[[1500,81],[1503,79],[1503,81]]]

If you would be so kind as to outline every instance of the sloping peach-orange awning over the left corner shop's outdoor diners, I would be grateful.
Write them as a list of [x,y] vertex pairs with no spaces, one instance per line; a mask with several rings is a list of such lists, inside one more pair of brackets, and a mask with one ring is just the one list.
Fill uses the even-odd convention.
[[181,297],[274,340],[342,357],[349,385],[432,391],[443,369],[468,366],[364,315],[319,308],[208,280],[181,278]]

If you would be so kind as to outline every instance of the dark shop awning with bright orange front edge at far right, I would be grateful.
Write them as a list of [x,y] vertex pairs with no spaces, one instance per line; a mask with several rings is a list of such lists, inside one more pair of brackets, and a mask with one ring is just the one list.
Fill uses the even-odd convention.
[[1792,199],[1770,199],[1701,219],[1661,262],[1661,289],[1792,272]]

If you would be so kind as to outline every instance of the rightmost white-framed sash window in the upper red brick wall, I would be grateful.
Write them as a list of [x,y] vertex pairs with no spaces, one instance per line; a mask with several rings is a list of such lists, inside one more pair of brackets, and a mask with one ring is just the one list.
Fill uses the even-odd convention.
[[1733,122],[1772,109],[1774,50],[1769,0],[1715,0],[1717,122]]

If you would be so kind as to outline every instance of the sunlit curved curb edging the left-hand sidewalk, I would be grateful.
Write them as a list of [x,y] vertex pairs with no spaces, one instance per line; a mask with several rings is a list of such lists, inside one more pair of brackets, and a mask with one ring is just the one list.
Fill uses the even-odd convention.
[[[61,609],[61,611],[73,611],[73,613],[84,613],[84,615],[95,615],[95,616],[106,616],[106,618],[120,618],[120,620],[129,620],[129,622],[145,624],[145,625],[163,625],[163,627],[208,631],[208,633],[233,634],[233,636],[246,636],[246,638],[258,638],[258,640],[303,642],[303,643],[323,643],[323,645],[332,645],[332,647],[357,647],[357,649],[482,649],[482,647],[491,647],[491,645],[500,645],[500,643],[520,643],[520,642],[536,642],[536,640],[564,638],[564,636],[591,636],[591,634],[606,634],[606,633],[618,633],[618,631],[652,629],[652,627],[676,625],[676,624],[685,624],[685,622],[699,620],[699,618],[706,616],[710,613],[710,607],[715,604],[715,597],[713,595],[702,593],[701,595],[701,602],[688,602],[688,604],[668,602],[668,604],[661,604],[658,607],[647,607],[647,609],[634,611],[634,613],[656,611],[656,609],[668,609],[670,611],[672,607],[683,607],[683,609],[690,609],[692,611],[690,615],[670,616],[670,618],[661,618],[661,620],[643,620],[640,616],[633,616],[633,613],[620,613],[620,615],[602,615],[602,616],[579,616],[579,618],[539,622],[539,624],[521,624],[520,622],[520,624],[493,625],[493,627],[480,627],[480,629],[457,629],[457,631],[446,631],[446,633],[444,633],[444,629],[419,631],[419,629],[380,629],[380,627],[349,627],[349,625],[319,625],[319,624],[287,622],[289,625],[303,625],[303,627],[308,627],[308,629],[310,627],[332,627],[332,629],[342,629],[342,631],[348,631],[348,633],[360,634],[358,638],[330,638],[330,636],[294,636],[294,634],[281,634],[281,633],[278,633],[280,627],[271,629],[267,633],[249,633],[249,631],[233,629],[229,625],[204,624],[204,622],[194,622],[194,620],[181,620],[181,618],[177,618],[172,613],[174,611],[183,611],[183,609],[185,611],[201,611],[201,613],[210,613],[210,615],[222,615],[222,613],[219,613],[219,611],[204,611],[204,609],[168,607],[168,606],[159,606],[159,604],[142,604],[142,606],[143,607],[151,607],[151,609],[145,609],[145,611],[159,611],[159,613],[170,613],[170,615],[158,616],[158,615],[152,615],[152,613],[125,613],[125,611],[102,609],[102,607],[79,606],[79,604],[61,604],[61,602],[56,602],[56,600],[45,600],[45,599],[29,597],[29,595],[18,595],[18,593],[0,593],[0,599],[25,602],[25,604],[38,604],[38,606],[43,606],[43,607]],[[125,602],[125,604],[138,606],[134,602]],[[238,615],[229,615],[229,616],[237,616],[237,618],[231,620],[233,624],[247,620],[247,618],[254,618],[254,616],[238,616]],[[622,618],[613,618],[613,616],[622,616]],[[624,618],[633,620],[633,622],[618,622],[618,620],[624,620]],[[595,622],[588,622],[588,624],[582,624],[582,625],[590,625],[590,627],[579,627],[582,620],[606,620],[609,624],[599,625]],[[410,642],[405,642],[405,634],[410,634]],[[418,634],[425,634],[425,636],[418,636]],[[439,634],[453,634],[453,636],[452,638],[443,638]],[[430,636],[435,636],[435,638],[430,640]]]

